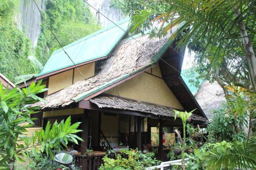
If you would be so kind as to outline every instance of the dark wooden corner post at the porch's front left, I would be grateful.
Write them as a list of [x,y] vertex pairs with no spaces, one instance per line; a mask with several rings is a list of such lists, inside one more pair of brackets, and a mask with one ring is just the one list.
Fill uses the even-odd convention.
[[[81,138],[83,139],[83,141],[81,142],[81,155],[83,155],[84,153],[86,153],[86,150],[88,148],[89,110],[86,110],[86,109],[84,109],[84,116],[82,119],[81,130],[82,130]],[[83,157],[82,170],[87,170],[87,169],[88,169],[87,158]]]

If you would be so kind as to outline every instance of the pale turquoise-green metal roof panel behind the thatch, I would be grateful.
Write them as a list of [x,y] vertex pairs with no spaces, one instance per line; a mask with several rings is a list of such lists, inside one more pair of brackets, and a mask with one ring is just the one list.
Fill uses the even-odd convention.
[[[130,18],[125,18],[117,22],[116,25],[127,31],[129,29],[129,21]],[[125,32],[120,28],[114,24],[110,25],[63,48],[75,64],[108,56],[125,35]],[[60,48],[53,52],[37,77],[73,65],[69,57]]]

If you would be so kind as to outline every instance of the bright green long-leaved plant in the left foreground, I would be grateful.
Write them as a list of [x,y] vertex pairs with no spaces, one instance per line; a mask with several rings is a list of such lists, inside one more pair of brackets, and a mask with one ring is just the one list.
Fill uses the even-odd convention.
[[52,127],[48,122],[45,130],[26,135],[26,128],[34,125],[30,114],[39,109],[31,104],[43,101],[36,94],[46,90],[41,81],[22,90],[17,87],[9,90],[0,83],[0,168],[15,166],[16,160],[25,161],[29,151],[34,155],[46,152],[53,158],[52,150],[59,151],[67,147],[68,142],[82,140],[75,135],[81,131],[77,130],[80,123],[71,125],[70,117],[60,124],[55,122]]

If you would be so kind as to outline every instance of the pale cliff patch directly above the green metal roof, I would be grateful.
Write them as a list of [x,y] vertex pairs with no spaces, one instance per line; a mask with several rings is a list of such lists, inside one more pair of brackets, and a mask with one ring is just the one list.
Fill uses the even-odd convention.
[[[87,0],[87,2],[97,9],[100,13],[108,17],[113,22],[117,22],[123,18],[123,14],[120,9],[113,8],[111,6],[111,0]],[[112,24],[112,22],[106,19],[103,15],[98,13],[95,9],[90,7],[90,11],[96,16],[102,27]]]

